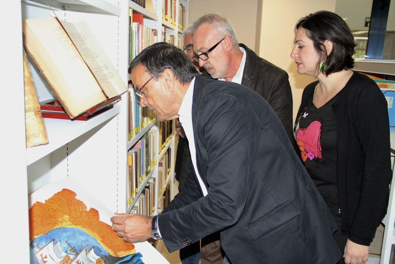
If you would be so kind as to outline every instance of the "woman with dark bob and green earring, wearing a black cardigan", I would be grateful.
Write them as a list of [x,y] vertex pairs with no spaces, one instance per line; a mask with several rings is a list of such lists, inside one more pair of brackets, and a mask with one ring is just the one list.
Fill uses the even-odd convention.
[[387,103],[376,83],[351,70],[356,44],[339,15],[301,18],[294,44],[298,73],[318,79],[303,91],[297,152],[338,224],[339,263],[362,263],[388,205]]

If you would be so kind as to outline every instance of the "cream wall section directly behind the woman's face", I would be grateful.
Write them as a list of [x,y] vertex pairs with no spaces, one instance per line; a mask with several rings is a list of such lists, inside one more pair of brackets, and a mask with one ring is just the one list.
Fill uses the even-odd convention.
[[314,81],[312,77],[299,75],[294,60],[290,58],[295,24],[301,17],[315,11],[333,12],[335,4],[336,0],[263,0],[259,54],[288,72],[293,97],[293,120],[299,109],[303,88]]

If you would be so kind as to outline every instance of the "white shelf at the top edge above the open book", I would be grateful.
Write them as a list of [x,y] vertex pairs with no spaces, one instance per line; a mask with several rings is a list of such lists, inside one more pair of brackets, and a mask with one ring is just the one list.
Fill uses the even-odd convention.
[[39,7],[49,9],[48,5],[56,10],[67,10],[84,13],[121,15],[122,9],[104,0],[23,0],[29,5],[38,3]]

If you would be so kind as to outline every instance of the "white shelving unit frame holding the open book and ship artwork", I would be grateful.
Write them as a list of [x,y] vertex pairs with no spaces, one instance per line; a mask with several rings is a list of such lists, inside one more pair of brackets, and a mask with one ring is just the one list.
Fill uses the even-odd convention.
[[[138,6],[131,0],[22,0],[7,3],[7,14],[2,16],[1,22],[2,25],[9,25],[2,29],[11,41],[2,44],[2,55],[7,63],[2,64],[1,69],[4,73],[3,85],[9,87],[6,91],[9,99],[4,100],[1,107],[3,113],[8,113],[4,115],[4,124],[7,124],[8,129],[5,127],[1,129],[5,140],[0,166],[0,175],[4,177],[6,183],[4,186],[7,186],[4,189],[7,190],[0,193],[5,203],[3,206],[5,215],[10,214],[10,220],[2,222],[2,234],[7,237],[5,247],[11,248],[10,253],[12,250],[15,252],[6,254],[2,259],[3,262],[13,263],[16,256],[16,262],[29,262],[28,195],[56,180],[72,177],[112,212],[128,213],[132,206],[127,206],[126,199],[128,150],[149,130],[155,131],[158,135],[156,139],[159,138],[159,121],[155,119],[146,122],[134,137],[128,137],[129,98],[127,93],[124,93],[122,100],[112,109],[88,121],[45,118],[49,143],[26,148],[22,20],[56,14],[61,21],[86,21],[127,85],[129,8],[132,8],[133,12],[144,15],[147,25],[157,30],[160,41],[163,25],[162,1],[165,0],[152,0],[154,12]],[[184,2],[187,3],[185,0]],[[177,5],[178,3],[179,0]],[[178,32],[178,25],[175,25],[174,30]],[[178,34],[175,36],[177,37]],[[30,65],[30,69],[38,101],[53,99],[53,93],[35,67]],[[156,159],[139,186],[135,198],[139,196],[145,183],[157,178],[159,159],[168,152],[168,149],[170,149],[171,165],[166,182],[170,188],[170,196],[173,198],[172,184],[177,141],[174,126],[173,121],[173,132],[163,146],[159,141],[155,142]],[[155,206],[152,214],[158,212],[160,192],[164,188],[164,185],[155,187]],[[5,220],[5,217],[2,218]],[[10,245],[18,246],[10,247]]]

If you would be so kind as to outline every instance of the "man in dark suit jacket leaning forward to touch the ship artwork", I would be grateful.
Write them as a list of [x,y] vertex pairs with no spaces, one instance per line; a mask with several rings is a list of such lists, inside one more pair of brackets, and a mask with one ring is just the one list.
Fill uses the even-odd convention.
[[163,239],[173,252],[221,231],[233,264],[339,260],[337,226],[258,93],[196,76],[183,51],[166,43],[143,50],[131,69],[141,105],[159,120],[183,118],[194,177],[159,216],[112,217],[118,236]]

